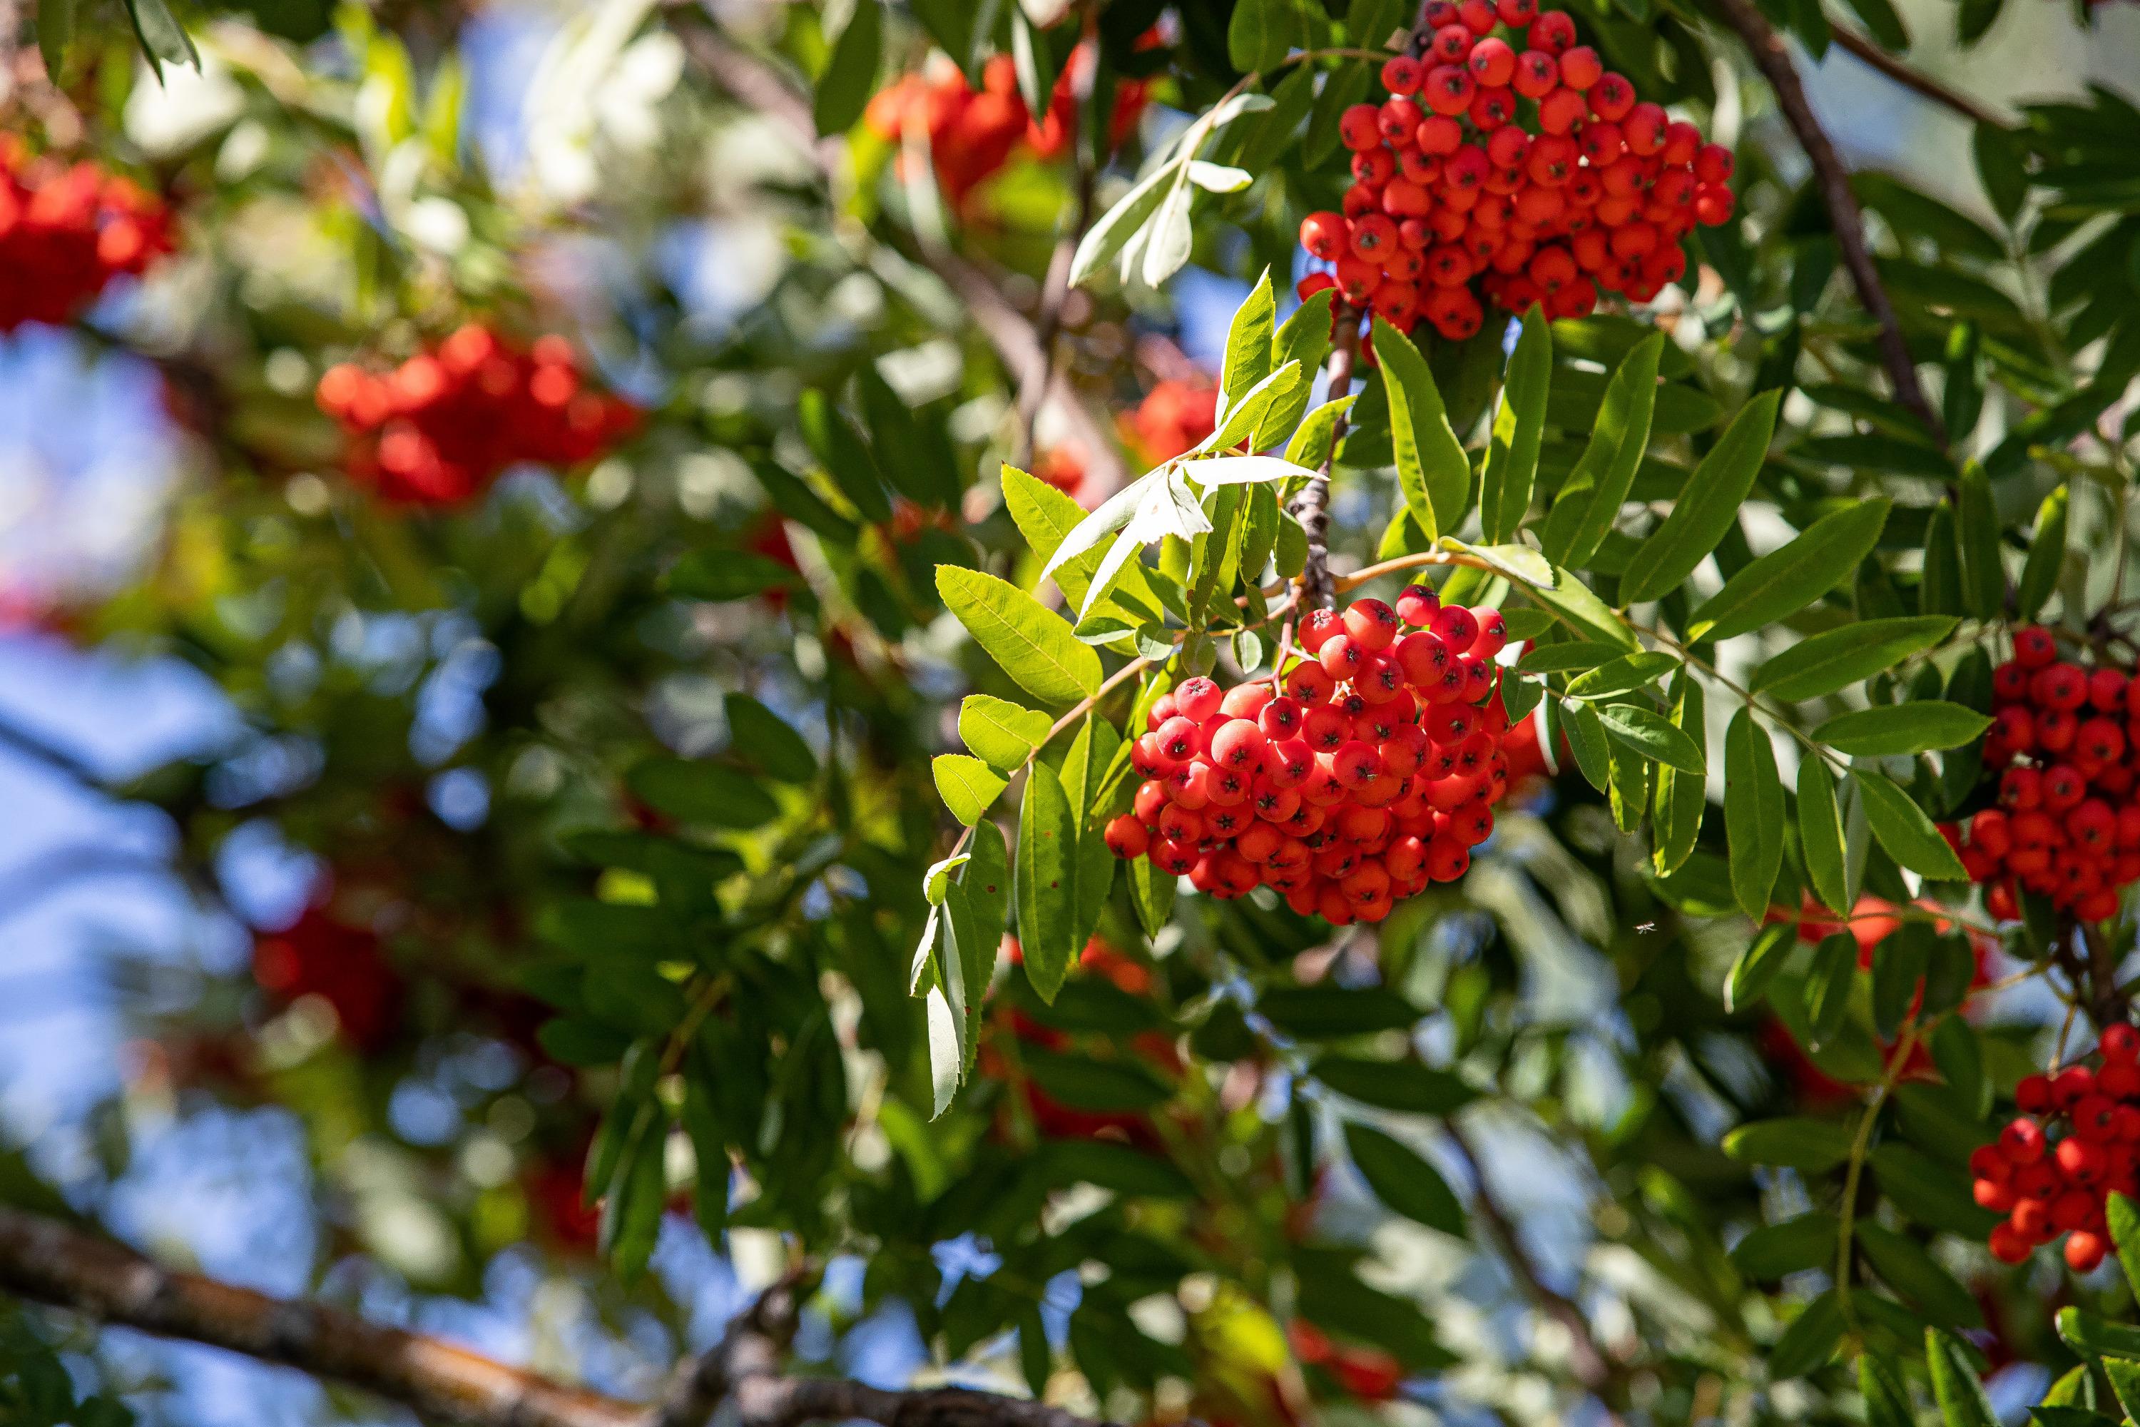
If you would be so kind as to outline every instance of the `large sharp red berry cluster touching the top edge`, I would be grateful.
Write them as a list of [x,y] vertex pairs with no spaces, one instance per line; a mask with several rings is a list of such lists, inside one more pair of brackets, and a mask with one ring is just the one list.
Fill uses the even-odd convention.
[[1511,312],[1588,317],[1601,291],[1650,302],[1678,282],[1695,223],[1731,216],[1731,150],[1637,103],[1537,0],[1430,0],[1425,21],[1425,56],[1382,64],[1391,98],[1340,122],[1352,186],[1344,212],[1301,223],[1301,246],[1331,263],[1301,300],[1335,289],[1397,329],[1425,319],[1464,340],[1485,321],[1481,291]]

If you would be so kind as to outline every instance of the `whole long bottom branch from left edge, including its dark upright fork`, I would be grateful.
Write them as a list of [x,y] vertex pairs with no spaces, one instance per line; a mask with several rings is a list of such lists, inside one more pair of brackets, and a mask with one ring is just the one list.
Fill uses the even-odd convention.
[[302,1299],[274,1299],[54,1217],[0,1207],[0,1292],[261,1363],[345,1382],[417,1416],[469,1427],[702,1427],[734,1403],[743,1427],[869,1421],[877,1427],[1113,1427],[1025,1397],[972,1388],[886,1391],[779,1371],[794,1331],[796,1279],[753,1303],[721,1344],[642,1406],[507,1367],[437,1337],[366,1322]]

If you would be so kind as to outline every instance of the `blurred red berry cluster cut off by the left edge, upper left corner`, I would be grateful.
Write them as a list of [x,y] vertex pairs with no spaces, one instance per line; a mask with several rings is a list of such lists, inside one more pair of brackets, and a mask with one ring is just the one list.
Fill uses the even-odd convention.
[[0,332],[64,323],[169,250],[171,218],[139,184],[0,135]]

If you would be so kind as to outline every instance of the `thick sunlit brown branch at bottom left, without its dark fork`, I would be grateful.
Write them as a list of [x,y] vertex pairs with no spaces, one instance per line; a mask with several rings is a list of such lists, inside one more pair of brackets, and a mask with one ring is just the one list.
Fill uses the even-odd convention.
[[360,1386],[473,1427],[640,1427],[627,1401],[563,1386],[332,1307],[270,1299],[56,1219],[0,1209],[0,1288],[160,1337],[182,1337]]

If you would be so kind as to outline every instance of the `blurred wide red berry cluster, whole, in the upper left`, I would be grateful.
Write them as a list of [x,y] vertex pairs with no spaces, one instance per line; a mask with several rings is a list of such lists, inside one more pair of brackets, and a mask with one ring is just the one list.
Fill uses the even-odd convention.
[[458,505],[516,462],[576,466],[640,421],[586,387],[565,338],[522,351],[479,323],[392,372],[334,366],[317,398],[351,436],[349,475],[411,505]]

